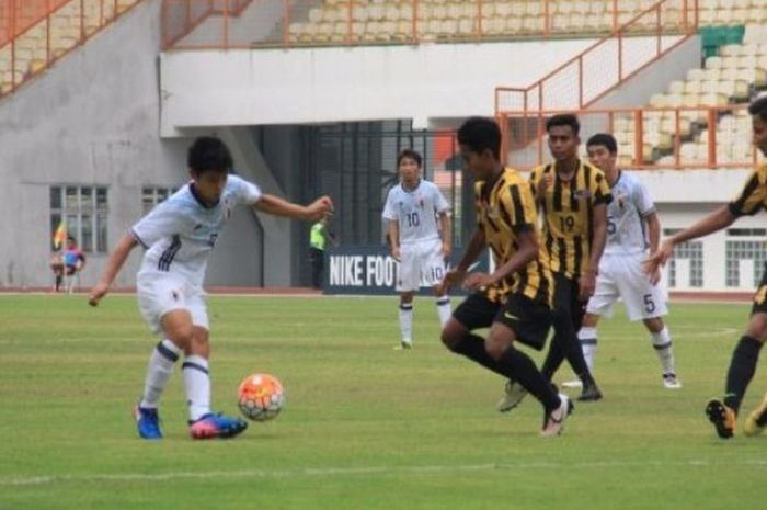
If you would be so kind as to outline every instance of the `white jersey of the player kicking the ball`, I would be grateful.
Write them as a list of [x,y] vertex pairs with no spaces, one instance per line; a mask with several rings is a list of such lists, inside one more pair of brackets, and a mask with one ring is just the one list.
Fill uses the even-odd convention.
[[133,226],[134,237],[147,250],[139,273],[175,273],[202,286],[210,250],[232,208],[261,199],[259,186],[230,174],[220,201],[208,207],[191,185],[184,185]]

